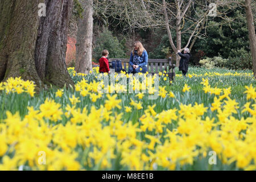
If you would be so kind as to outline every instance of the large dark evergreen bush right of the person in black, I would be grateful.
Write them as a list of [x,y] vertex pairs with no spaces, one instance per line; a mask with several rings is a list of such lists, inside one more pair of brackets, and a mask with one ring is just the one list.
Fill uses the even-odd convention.
[[207,57],[221,56],[229,59],[226,68],[251,69],[245,10],[236,7],[226,14],[225,19],[216,17],[208,21],[207,30],[202,31],[205,31],[205,37],[197,39],[193,46],[192,64],[198,65],[200,52],[204,52]]

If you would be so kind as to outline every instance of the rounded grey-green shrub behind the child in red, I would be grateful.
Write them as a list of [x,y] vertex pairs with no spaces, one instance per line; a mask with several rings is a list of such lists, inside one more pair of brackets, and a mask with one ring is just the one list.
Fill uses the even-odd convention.
[[101,34],[96,38],[95,48],[93,50],[93,58],[99,60],[101,52],[104,49],[109,51],[109,58],[125,57],[123,46],[118,39],[112,35],[112,32],[105,28]]

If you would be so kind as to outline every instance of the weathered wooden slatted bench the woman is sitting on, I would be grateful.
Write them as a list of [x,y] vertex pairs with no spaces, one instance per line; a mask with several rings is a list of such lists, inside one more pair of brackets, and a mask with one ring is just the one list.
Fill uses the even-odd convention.
[[[125,69],[126,72],[128,72],[128,69],[130,67],[130,64],[129,64],[130,59],[111,58],[109,59],[109,67],[111,67],[111,62],[113,60],[121,60],[123,69]],[[171,57],[169,57],[169,59],[148,59],[148,63],[147,63],[148,73],[158,74],[159,72],[163,73],[164,71],[166,71],[170,80],[174,81],[174,78],[175,78],[174,68],[175,68],[175,64],[172,64]]]

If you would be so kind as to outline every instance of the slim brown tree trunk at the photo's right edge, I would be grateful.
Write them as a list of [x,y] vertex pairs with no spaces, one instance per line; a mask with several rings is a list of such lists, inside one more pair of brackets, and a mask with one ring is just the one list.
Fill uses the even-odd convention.
[[256,78],[256,35],[255,35],[253,13],[251,12],[250,5],[251,5],[251,0],[245,0],[246,20],[247,20],[247,27],[249,31],[251,58],[253,62],[253,74],[254,74],[254,78]]

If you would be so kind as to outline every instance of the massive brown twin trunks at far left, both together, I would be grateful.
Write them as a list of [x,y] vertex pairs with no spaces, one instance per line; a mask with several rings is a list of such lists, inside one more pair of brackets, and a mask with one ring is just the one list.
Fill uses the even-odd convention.
[[[39,17],[39,3],[46,16]],[[65,65],[72,0],[0,1],[0,81],[9,77],[73,85]]]

